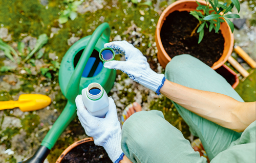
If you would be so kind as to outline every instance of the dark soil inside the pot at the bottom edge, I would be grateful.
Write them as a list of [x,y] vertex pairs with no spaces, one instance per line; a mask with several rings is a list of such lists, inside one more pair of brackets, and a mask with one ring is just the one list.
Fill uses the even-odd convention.
[[96,146],[93,141],[82,143],[69,151],[61,163],[113,163],[101,146]]

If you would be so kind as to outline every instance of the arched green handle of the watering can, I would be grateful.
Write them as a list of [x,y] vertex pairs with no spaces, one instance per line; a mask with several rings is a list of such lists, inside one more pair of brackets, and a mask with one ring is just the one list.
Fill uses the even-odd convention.
[[93,32],[91,39],[89,40],[86,48],[84,48],[82,55],[76,65],[76,68],[74,72],[72,73],[72,76],[69,80],[69,84],[67,86],[67,98],[70,100],[70,102],[75,103],[75,98],[79,93],[79,85],[80,80],[82,77],[82,72],[84,67],[86,67],[90,56],[89,54],[92,54],[93,49],[98,42],[99,38],[104,39],[106,42],[109,42],[110,38],[110,26],[108,23],[104,22],[98,26],[98,28]]

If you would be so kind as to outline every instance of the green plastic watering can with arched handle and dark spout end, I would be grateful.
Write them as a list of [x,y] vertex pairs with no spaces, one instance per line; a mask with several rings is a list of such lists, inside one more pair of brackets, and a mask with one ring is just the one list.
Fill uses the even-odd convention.
[[73,44],[63,57],[59,70],[59,86],[68,102],[47,133],[35,154],[24,163],[42,163],[61,133],[76,116],[75,98],[91,83],[99,83],[109,93],[114,85],[116,70],[103,67],[99,51],[110,40],[110,26],[104,22],[91,36]]

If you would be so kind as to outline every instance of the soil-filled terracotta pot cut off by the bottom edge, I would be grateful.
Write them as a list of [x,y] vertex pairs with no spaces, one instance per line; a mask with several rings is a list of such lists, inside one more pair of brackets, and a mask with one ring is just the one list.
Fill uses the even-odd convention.
[[113,163],[101,146],[96,146],[93,138],[77,141],[66,148],[56,163]]

